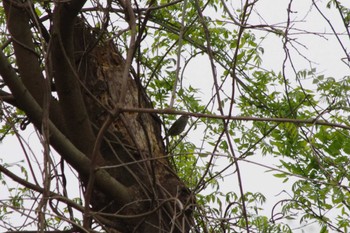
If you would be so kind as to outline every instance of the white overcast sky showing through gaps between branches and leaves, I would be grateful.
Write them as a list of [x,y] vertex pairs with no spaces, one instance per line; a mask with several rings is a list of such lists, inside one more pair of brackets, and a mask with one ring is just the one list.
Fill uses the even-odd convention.
[[[232,1],[237,2],[237,1]],[[319,1],[320,8],[326,13],[327,17],[332,22],[338,22],[333,24],[338,32],[343,32],[343,25],[339,24],[339,15],[334,14],[334,10],[326,10],[322,5],[325,5],[327,1]],[[348,1],[342,1],[343,4],[349,4]],[[286,7],[289,1],[286,0],[261,0],[257,3],[256,11],[264,19],[263,21],[256,15],[252,17],[250,22],[259,23],[284,23],[286,21]],[[294,0],[293,11],[297,12],[292,14],[292,20],[300,21],[295,23],[295,28],[305,29],[306,31],[313,32],[331,32],[329,25],[325,22],[316,12],[314,8],[310,8],[311,1],[307,0]],[[310,11],[311,9],[311,11]],[[256,33],[256,31],[254,31]],[[293,31],[292,31],[293,32]],[[265,32],[260,33],[261,36],[265,36]],[[315,35],[295,35],[298,37],[298,42],[305,45],[306,48],[298,47],[307,58],[311,59],[314,63],[310,64],[304,60],[301,56],[292,52],[293,62],[296,64],[297,70],[309,69],[310,66],[316,67],[318,72],[322,72],[326,76],[333,76],[337,79],[341,79],[343,76],[348,75],[349,67],[347,67],[340,59],[345,57],[344,51],[339,46],[339,43],[335,40],[334,36],[327,36],[327,38],[317,37]],[[257,38],[259,38],[257,36]],[[345,47],[348,49],[350,40],[346,36],[341,37]],[[265,39],[262,43],[262,47],[265,48],[265,54],[263,56],[263,67],[274,69],[279,71],[284,58],[284,53],[281,50],[282,42],[280,37],[269,35],[268,39]],[[288,78],[295,79],[292,72],[288,73]],[[207,58],[198,59],[196,62],[190,64],[188,71],[185,73],[185,83],[190,83],[192,86],[201,89],[203,93],[202,100],[205,102],[211,97],[212,86],[211,86],[211,70],[209,61]],[[200,79],[200,81],[198,81]],[[34,146],[35,154],[42,154],[41,146],[37,139],[33,135],[33,129],[29,129],[24,134],[24,139],[28,141],[29,145]],[[193,135],[193,141],[195,142],[198,136]],[[189,136],[191,140],[191,135]],[[199,142],[198,142],[199,143]],[[238,152],[239,153],[239,152]],[[14,137],[7,137],[0,144],[0,159],[6,163],[13,163],[23,157],[23,151],[19,147],[17,139]],[[261,157],[254,155],[252,159],[256,159],[257,162],[261,162],[267,165],[277,164],[278,160],[271,157]],[[219,161],[218,161],[219,162]],[[221,161],[226,164],[226,161]],[[68,169],[67,169],[68,170]],[[275,179],[271,173],[266,173],[266,168],[258,167],[256,165],[248,164],[245,162],[241,163],[241,171],[244,182],[244,190],[251,192],[262,192],[267,197],[267,203],[264,205],[266,208],[266,214],[269,216],[270,209],[277,200],[287,198],[286,193],[281,193],[282,190],[290,190],[290,184],[283,184],[282,180]],[[231,171],[232,172],[232,171]],[[76,183],[71,184],[72,187],[76,187]],[[222,186],[222,191],[237,190],[237,178],[230,176],[229,180],[225,181]],[[79,194],[76,193],[76,196]],[[74,196],[74,195],[72,195]],[[75,196],[74,196],[75,197]],[[0,192],[0,199],[7,198],[4,191]],[[295,225],[298,226],[298,225]],[[307,228],[307,232],[315,232],[318,229],[316,226]],[[304,229],[305,230],[305,229]],[[302,230],[295,230],[294,232],[302,232]]]

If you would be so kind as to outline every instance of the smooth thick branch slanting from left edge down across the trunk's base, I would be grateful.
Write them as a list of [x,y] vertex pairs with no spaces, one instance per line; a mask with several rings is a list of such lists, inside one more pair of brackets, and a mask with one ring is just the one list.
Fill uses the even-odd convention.
[[[8,63],[6,56],[0,51],[0,75],[10,88],[12,94],[20,104],[20,107],[40,129],[43,110],[30,95],[20,78]],[[51,122],[48,122],[50,130],[50,141],[57,152],[72,166],[79,174],[88,177],[90,174],[91,161],[79,151]],[[129,203],[130,195],[128,189],[111,177],[105,170],[98,169],[95,172],[96,185],[107,196],[118,199],[120,203]]]

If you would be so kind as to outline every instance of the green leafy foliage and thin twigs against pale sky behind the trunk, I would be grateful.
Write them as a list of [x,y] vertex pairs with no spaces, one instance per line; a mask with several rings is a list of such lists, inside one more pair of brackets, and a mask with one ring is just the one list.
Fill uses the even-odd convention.
[[[102,38],[112,40],[126,54],[132,35],[120,2],[112,1],[110,6],[102,1],[88,2],[81,17],[96,30],[106,30]],[[270,3],[263,0],[232,6],[226,1],[133,2],[138,32],[142,33],[133,71],[159,109],[164,132],[176,117],[162,114],[163,109],[175,107],[177,115],[186,111],[192,116],[187,132],[165,143],[176,172],[196,195],[195,228],[200,232],[296,232],[299,226],[308,229],[309,224],[320,232],[349,231],[350,76],[339,76],[337,70],[323,74],[323,67],[315,65],[313,55],[303,50],[311,46],[303,40],[311,37],[326,47],[319,38],[328,39],[329,34],[338,38],[332,43],[343,48],[347,66],[342,67],[348,72],[350,7],[336,0],[305,1],[303,9],[310,6],[318,15],[306,13],[306,19],[316,17],[329,24],[327,32],[322,32],[304,29],[301,16],[294,20],[293,14],[300,8],[292,2],[284,5],[287,11],[278,13],[282,22],[273,23],[264,19],[261,5]],[[48,28],[46,16],[54,5],[39,1],[34,7]],[[103,11],[103,7],[110,11]],[[339,15],[343,27],[334,28],[339,19],[325,16],[325,12]],[[2,49],[13,63],[3,10],[0,28]],[[34,26],[32,30],[36,49],[42,51],[46,44]],[[276,38],[279,45],[264,46]],[[276,59],[280,64],[264,67],[267,59],[272,59],[266,54],[275,49],[283,52],[280,60]],[[44,68],[45,57],[41,56]],[[8,91],[5,83],[1,87]],[[16,105],[6,102],[4,93],[0,94],[4,99],[0,118],[3,139],[17,134],[26,118]],[[170,104],[173,98],[174,106]],[[264,193],[269,187],[250,190],[245,186],[247,163],[269,171],[268,176],[256,177],[253,187],[260,187],[260,182],[286,185],[279,189],[277,199]],[[29,177],[26,172],[32,164],[40,169],[39,159],[33,162],[26,157],[23,174],[18,176],[32,182],[37,175],[34,172]],[[52,166],[58,164],[53,162]],[[1,166],[6,168],[5,157],[1,157]],[[58,171],[54,168],[51,175],[59,176]],[[269,181],[261,180],[266,177]],[[0,227],[33,227],[35,219],[20,226],[6,222],[13,218],[13,211],[21,217],[33,214],[35,208],[30,205],[40,204],[38,194],[16,183],[9,186],[3,171],[0,181],[1,189],[8,190],[8,197],[1,197]],[[57,192],[66,188],[59,182],[56,185],[52,188]],[[79,194],[74,197],[81,202]],[[48,228],[81,226],[81,219],[67,206],[57,209],[59,213],[45,213]]]

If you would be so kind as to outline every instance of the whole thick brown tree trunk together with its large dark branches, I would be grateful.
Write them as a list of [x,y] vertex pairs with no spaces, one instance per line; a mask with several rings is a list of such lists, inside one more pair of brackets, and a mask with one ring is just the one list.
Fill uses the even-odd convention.
[[[39,130],[46,122],[51,145],[78,171],[83,184],[95,176],[90,204],[94,217],[110,214],[111,221],[104,225],[107,231],[188,232],[194,199],[165,157],[156,115],[121,112],[113,116],[97,161],[89,160],[96,135],[119,102],[125,61],[111,40],[97,40],[82,20],[73,27],[83,4],[72,0],[56,5],[46,36],[50,45],[46,60],[35,52],[29,5],[4,2],[18,73],[2,53],[0,73],[31,122]],[[44,78],[42,67],[48,77]],[[58,100],[47,88],[48,80],[55,83]],[[137,77],[129,76],[127,82],[124,107],[151,107]],[[43,119],[48,105],[49,117]],[[116,196],[120,198],[111,198]]]

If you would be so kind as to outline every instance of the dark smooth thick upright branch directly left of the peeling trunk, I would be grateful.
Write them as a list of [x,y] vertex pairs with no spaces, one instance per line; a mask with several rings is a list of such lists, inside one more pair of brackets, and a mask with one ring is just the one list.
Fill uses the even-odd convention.
[[[68,137],[87,156],[91,155],[95,136],[81,93],[74,61],[74,24],[76,10],[84,1],[58,3],[54,10],[52,66]],[[80,4],[80,5],[79,5]]]

